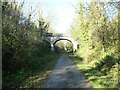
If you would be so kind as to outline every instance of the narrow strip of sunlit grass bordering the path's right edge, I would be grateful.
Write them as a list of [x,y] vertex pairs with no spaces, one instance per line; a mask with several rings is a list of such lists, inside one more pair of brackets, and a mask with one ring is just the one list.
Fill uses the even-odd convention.
[[74,55],[70,55],[70,58],[79,70],[84,73],[93,88],[116,88],[111,82],[110,77],[103,75],[98,70],[92,68],[90,64],[86,64],[82,58],[78,58]]

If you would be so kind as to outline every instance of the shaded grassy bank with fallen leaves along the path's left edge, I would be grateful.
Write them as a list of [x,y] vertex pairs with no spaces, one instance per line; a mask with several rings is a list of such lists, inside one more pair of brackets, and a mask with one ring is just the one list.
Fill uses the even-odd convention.
[[[60,54],[53,52],[44,54],[34,54],[29,57],[32,62],[28,70],[21,69],[16,73],[3,75],[3,88],[40,88],[44,84],[48,74],[56,64]],[[44,60],[44,63],[41,61]]]

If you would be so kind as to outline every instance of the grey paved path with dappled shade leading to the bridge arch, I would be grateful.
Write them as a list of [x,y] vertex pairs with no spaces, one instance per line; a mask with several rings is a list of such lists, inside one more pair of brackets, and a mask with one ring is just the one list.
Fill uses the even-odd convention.
[[92,88],[67,54],[60,57],[44,88]]

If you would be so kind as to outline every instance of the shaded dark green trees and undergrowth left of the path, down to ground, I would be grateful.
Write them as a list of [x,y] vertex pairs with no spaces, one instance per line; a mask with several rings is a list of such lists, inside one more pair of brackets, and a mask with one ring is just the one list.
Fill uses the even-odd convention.
[[31,20],[33,13],[23,16],[23,6],[24,2],[2,2],[3,88],[19,87],[23,79],[45,69],[57,56],[42,41],[50,23],[39,17],[37,27]]

